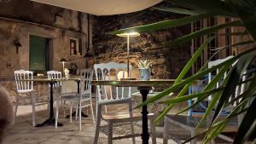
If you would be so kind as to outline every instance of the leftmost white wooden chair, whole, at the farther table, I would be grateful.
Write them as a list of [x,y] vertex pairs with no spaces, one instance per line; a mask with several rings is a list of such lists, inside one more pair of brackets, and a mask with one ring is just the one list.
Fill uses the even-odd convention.
[[[20,99],[22,98],[30,98],[30,104],[32,105],[32,125],[35,126],[35,112],[36,106],[44,105],[47,102],[44,101],[36,101],[36,91],[34,90],[33,81],[22,81],[22,80],[32,80],[33,79],[33,72],[32,71],[25,71],[25,70],[17,70],[15,71],[15,83],[16,83],[16,101],[15,101],[15,117],[17,114],[18,106],[20,104]],[[23,95],[23,96],[22,96]],[[27,95],[24,96],[24,95]],[[14,124],[15,124],[15,117],[14,117]]]

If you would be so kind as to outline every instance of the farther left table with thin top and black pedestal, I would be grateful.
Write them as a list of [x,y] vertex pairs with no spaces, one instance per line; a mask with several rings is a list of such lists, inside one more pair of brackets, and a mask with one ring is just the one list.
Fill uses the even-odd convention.
[[[42,124],[37,124],[36,127],[42,127],[47,125],[55,125],[55,116],[54,116],[54,95],[53,95],[53,85],[56,82],[73,80],[78,84],[78,94],[79,94],[79,84],[81,78],[32,78],[32,79],[22,79],[21,81],[33,81],[38,83],[49,83],[49,118],[47,118]],[[58,126],[62,126],[63,124],[58,123]]]

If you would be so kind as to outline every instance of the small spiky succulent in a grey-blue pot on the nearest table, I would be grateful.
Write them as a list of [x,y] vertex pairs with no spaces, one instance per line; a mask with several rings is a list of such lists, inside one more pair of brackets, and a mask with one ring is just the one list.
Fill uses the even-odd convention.
[[139,79],[141,80],[149,80],[150,79],[150,66],[153,61],[150,60],[138,60],[137,66],[139,70]]

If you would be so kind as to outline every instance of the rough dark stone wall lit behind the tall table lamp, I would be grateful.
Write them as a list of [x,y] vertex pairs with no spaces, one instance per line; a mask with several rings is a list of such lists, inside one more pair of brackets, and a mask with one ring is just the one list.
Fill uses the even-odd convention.
[[[94,62],[124,62],[126,63],[126,38],[108,35],[107,32],[130,26],[150,24],[160,20],[170,20],[182,15],[165,13],[158,10],[146,9],[131,14],[113,16],[95,16],[93,27]],[[164,47],[163,42],[173,40],[189,33],[189,26],[182,26],[157,32],[144,32],[139,37],[131,37],[130,61],[135,67],[137,77],[137,60],[154,60],[154,78],[177,78],[183,66],[189,60],[189,43],[183,47]]]

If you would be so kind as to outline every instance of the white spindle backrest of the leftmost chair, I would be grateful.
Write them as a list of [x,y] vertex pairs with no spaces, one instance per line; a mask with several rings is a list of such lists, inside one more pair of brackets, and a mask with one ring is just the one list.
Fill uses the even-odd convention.
[[15,71],[15,82],[18,93],[31,92],[33,90],[33,81],[21,81],[22,79],[33,79],[32,71]]

